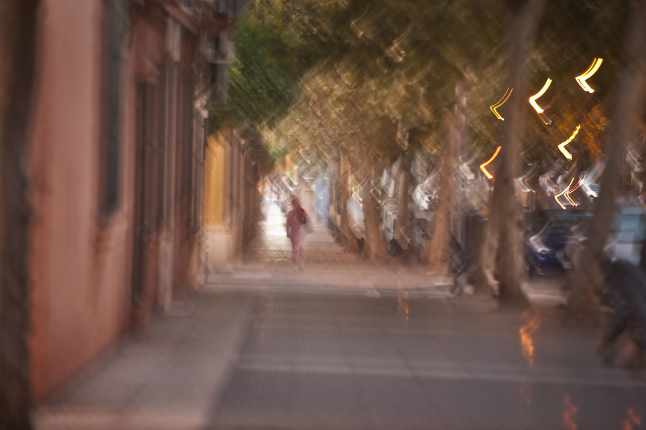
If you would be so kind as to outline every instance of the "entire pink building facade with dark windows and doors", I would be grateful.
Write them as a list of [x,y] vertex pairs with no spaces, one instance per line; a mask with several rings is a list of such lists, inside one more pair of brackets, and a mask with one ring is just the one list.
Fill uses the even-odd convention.
[[36,400],[198,281],[204,120],[222,93],[209,35],[233,19],[219,7],[41,1],[28,160]]

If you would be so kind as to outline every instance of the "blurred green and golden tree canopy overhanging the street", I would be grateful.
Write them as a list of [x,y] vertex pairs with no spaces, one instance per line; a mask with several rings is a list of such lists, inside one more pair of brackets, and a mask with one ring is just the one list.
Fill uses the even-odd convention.
[[[589,161],[601,152],[628,11],[627,1],[547,3],[528,84],[538,90],[551,77],[543,105],[556,99],[546,109],[551,125],[525,105],[527,158],[562,158],[557,145],[579,123],[573,154]],[[463,81],[470,151],[491,152],[501,121],[489,107],[507,88],[506,34],[497,0],[256,0],[239,23],[230,110],[210,120],[256,127],[276,157],[302,147],[315,160],[340,151],[358,163],[396,157],[398,125],[418,128],[424,137],[410,141],[413,150],[437,159]],[[574,76],[594,57],[604,62],[589,94]]]

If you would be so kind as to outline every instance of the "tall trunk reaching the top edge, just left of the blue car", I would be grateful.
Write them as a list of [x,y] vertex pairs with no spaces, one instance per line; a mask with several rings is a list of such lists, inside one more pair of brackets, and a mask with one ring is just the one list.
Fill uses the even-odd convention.
[[498,247],[496,267],[498,270],[498,292],[501,307],[529,306],[525,292],[521,289],[521,234],[519,224],[519,203],[516,199],[516,177],[518,141],[523,127],[523,112],[526,108],[525,61],[527,47],[532,43],[540,20],[545,0],[508,0],[510,11],[509,86],[514,92],[508,99],[510,114],[502,125],[500,164],[494,177],[494,210],[490,222],[498,225]]

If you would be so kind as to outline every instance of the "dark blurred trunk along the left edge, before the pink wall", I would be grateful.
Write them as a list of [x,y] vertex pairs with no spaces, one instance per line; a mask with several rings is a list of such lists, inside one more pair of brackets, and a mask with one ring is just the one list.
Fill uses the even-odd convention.
[[0,429],[31,429],[26,172],[37,0],[0,4]]

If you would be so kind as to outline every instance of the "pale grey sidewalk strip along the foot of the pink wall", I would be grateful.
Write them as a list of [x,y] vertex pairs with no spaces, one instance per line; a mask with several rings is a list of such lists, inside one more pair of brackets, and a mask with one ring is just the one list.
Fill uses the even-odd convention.
[[201,429],[249,325],[245,300],[197,294],[125,336],[34,416],[39,430]]

